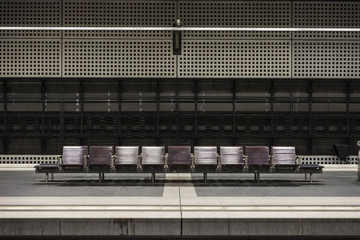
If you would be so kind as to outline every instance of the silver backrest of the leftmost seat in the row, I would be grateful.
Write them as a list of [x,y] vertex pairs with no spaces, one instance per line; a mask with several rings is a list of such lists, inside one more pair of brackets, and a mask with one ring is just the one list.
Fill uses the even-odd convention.
[[62,165],[84,165],[86,155],[88,155],[87,146],[64,146]]

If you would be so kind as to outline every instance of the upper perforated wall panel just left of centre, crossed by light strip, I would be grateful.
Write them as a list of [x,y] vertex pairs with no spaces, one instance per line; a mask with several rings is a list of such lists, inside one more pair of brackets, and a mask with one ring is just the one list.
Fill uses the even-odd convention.
[[[176,1],[65,0],[64,26],[162,26],[176,21]],[[64,31],[65,38],[170,39],[167,31]]]

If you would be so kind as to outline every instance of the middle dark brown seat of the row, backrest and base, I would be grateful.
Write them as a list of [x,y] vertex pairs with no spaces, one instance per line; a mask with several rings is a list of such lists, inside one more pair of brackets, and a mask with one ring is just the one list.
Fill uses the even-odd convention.
[[189,171],[192,165],[190,146],[168,146],[165,166],[170,172]]

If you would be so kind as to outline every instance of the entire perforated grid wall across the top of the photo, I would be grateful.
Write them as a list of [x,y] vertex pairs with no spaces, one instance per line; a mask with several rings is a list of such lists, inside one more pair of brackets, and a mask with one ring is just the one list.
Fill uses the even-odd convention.
[[[0,0],[0,12],[1,26],[360,27],[359,1]],[[174,56],[169,31],[0,31],[0,77],[358,78],[359,39],[186,31]]]

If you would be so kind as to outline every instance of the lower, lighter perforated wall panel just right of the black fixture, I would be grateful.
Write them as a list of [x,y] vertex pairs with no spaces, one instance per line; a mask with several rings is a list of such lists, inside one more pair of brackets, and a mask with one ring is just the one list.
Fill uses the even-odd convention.
[[179,77],[290,77],[290,41],[183,41]]

